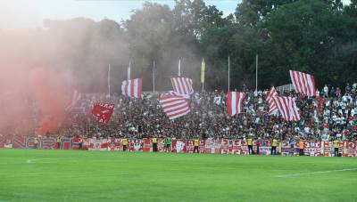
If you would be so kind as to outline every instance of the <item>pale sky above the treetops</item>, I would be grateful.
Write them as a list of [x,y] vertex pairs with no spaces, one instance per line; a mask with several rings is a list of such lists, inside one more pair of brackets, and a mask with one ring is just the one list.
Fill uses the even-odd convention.
[[[174,6],[174,0],[149,0]],[[205,0],[216,5],[226,16],[235,12],[240,0]],[[140,9],[145,0],[0,0],[0,28],[39,28],[43,19],[65,20],[86,17],[128,20],[133,10]]]

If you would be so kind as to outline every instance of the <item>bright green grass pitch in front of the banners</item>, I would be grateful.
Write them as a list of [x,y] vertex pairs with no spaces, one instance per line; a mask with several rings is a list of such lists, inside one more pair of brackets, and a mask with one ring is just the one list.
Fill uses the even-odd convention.
[[357,201],[357,170],[336,171],[354,168],[357,158],[1,149],[0,201]]

